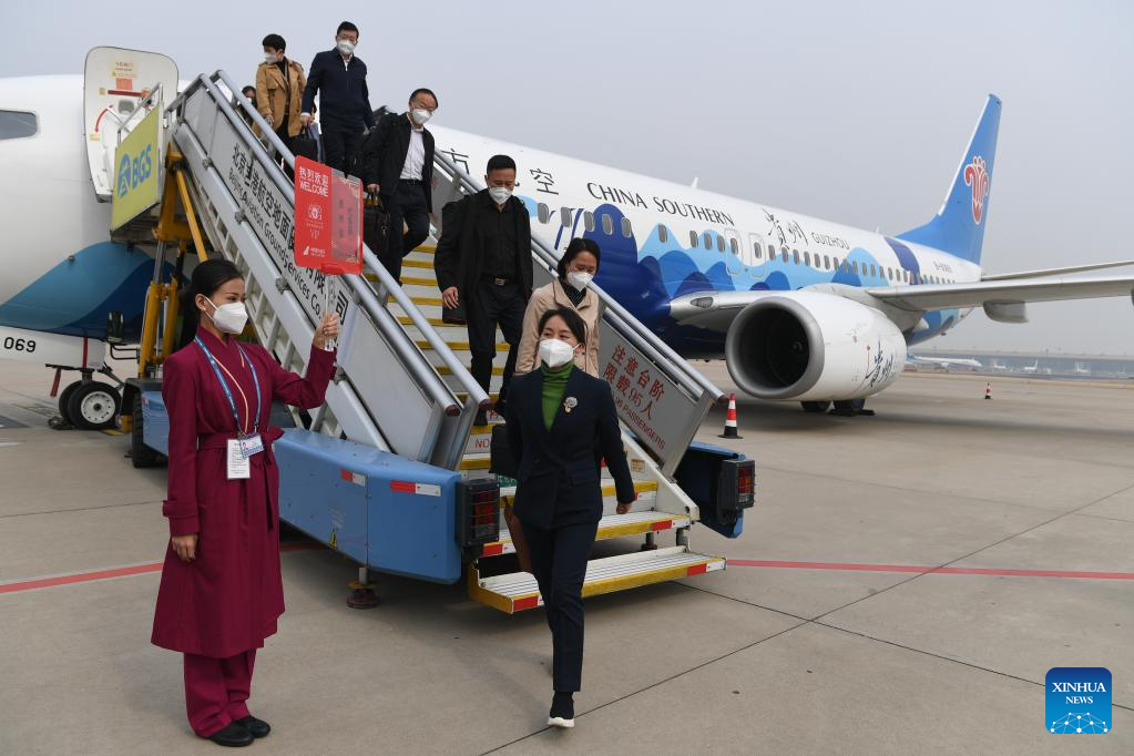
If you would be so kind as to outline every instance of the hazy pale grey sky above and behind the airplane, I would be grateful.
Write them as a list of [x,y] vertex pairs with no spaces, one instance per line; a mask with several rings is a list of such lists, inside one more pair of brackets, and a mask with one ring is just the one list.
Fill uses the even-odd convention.
[[[1134,258],[1129,2],[49,1],[2,16],[0,76],[81,73],[108,44],[248,83],[264,34],[308,67],[349,18],[375,107],[430,86],[439,124],[890,233],[937,211],[995,92],[985,267]],[[975,313],[933,345],[1134,354],[1128,298],[1030,313]]]

